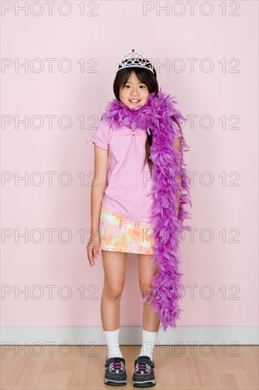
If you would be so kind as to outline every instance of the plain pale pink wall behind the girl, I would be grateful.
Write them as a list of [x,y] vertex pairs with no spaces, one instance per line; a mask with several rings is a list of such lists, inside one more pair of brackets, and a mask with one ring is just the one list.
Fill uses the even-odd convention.
[[[192,15],[181,1],[183,15],[167,16],[155,1],[98,1],[85,2],[81,16],[82,2],[71,1],[67,17],[60,1],[52,16],[42,1],[38,17],[39,7],[24,16],[1,3],[1,325],[101,325],[102,262],[91,268],[86,257],[93,178],[86,139],[114,98],[117,62],[132,48],[154,59],[163,91],[195,116],[184,128],[195,231],[181,244],[179,325],[257,325],[258,3],[211,1],[209,11],[199,1]],[[25,61],[26,71],[17,66]],[[159,67],[166,61],[168,69]],[[18,123],[25,116],[26,126]],[[128,255],[120,313],[122,326],[142,325],[136,255]]]

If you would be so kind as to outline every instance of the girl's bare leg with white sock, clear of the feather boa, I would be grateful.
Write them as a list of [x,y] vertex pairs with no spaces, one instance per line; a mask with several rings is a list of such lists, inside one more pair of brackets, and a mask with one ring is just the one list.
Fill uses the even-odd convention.
[[100,312],[108,346],[108,359],[122,357],[119,343],[120,299],[125,285],[126,252],[102,250],[105,274]]

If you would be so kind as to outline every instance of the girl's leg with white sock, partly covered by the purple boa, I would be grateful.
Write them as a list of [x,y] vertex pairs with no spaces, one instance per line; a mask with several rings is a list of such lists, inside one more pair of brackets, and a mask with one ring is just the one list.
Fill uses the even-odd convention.
[[[153,255],[138,255],[139,259],[139,287],[142,297],[149,292],[151,282],[157,272],[156,264],[153,262]],[[159,334],[159,315],[150,306],[149,299],[143,303],[143,328],[142,328],[142,349],[139,356],[149,356],[153,360],[153,351],[156,339]]]

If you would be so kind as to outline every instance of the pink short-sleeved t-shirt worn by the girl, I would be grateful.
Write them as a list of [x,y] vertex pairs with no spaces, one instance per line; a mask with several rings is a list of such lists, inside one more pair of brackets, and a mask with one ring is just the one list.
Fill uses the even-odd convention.
[[[113,130],[108,119],[87,140],[109,151],[108,185],[103,204],[131,221],[151,222],[151,184],[146,155],[146,130],[134,132],[127,126]],[[143,171],[142,167],[144,165]]]

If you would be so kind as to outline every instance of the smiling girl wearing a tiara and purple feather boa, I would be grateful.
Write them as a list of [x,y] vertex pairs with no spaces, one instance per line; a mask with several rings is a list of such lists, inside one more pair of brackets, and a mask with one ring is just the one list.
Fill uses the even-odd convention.
[[119,344],[120,299],[127,253],[137,253],[144,309],[142,348],[132,379],[133,386],[154,386],[159,326],[175,327],[180,312],[175,286],[183,284],[176,230],[190,229],[183,226],[188,217],[183,204],[190,203],[183,194],[189,184],[183,145],[188,145],[179,120],[185,118],[174,108],[175,101],[159,91],[154,66],[134,50],[118,65],[113,91],[116,99],[89,138],[95,144],[95,178],[87,254],[92,267],[99,246],[102,251],[105,281],[100,311],[108,345],[104,381],[127,384]]

